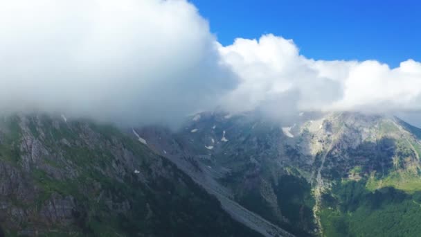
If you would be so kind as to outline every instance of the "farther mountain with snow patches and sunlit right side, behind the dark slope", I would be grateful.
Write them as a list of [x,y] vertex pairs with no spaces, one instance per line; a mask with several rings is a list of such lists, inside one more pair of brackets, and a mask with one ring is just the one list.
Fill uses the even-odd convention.
[[267,236],[421,233],[421,130],[396,117],[204,112],[177,132],[137,133]]

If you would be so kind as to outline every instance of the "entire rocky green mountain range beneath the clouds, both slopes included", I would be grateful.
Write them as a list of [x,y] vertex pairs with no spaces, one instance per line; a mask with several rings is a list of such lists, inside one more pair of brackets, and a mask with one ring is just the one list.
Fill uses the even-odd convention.
[[3,236],[417,236],[421,130],[202,112],[178,130],[0,120]]

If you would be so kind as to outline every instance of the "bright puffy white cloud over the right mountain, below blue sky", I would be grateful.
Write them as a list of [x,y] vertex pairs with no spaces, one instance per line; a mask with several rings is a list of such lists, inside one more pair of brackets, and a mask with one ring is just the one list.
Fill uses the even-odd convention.
[[263,109],[283,116],[296,110],[421,109],[421,64],[396,69],[377,61],[323,61],[299,54],[292,40],[263,35],[220,46],[224,63],[241,78],[226,109]]

